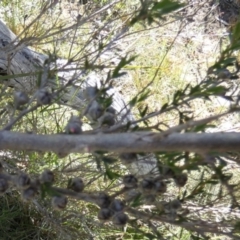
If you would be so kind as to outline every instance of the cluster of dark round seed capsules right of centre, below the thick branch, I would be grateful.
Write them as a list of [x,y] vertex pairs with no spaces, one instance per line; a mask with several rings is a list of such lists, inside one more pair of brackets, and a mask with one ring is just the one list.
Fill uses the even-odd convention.
[[[120,159],[124,164],[132,164],[138,160],[136,153],[122,153]],[[171,219],[175,219],[177,213],[182,210],[182,203],[179,199],[173,199],[168,202],[156,201],[158,195],[167,191],[167,184],[172,179],[177,187],[184,187],[188,181],[188,175],[181,171],[174,171],[170,167],[163,167],[159,176],[145,177],[138,181],[134,175],[126,175],[123,178],[123,184],[128,190],[125,193],[127,202],[134,201],[141,196],[147,204],[153,204],[167,214]]]

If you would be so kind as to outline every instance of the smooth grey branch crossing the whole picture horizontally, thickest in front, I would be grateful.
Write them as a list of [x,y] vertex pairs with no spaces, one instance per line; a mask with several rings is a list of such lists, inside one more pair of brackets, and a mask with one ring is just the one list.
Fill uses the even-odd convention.
[[80,135],[35,135],[0,131],[0,150],[26,150],[55,153],[159,152],[196,153],[236,151],[240,133],[164,133],[134,132]]

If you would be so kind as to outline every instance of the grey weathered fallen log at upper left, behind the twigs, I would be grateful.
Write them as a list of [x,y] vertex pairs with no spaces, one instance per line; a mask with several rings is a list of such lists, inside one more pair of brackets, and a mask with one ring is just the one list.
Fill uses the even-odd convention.
[[[16,90],[24,90],[27,93],[33,94],[37,88],[37,77],[40,71],[43,71],[43,65],[48,56],[35,52],[29,47],[21,44],[16,35],[11,32],[10,29],[0,20],[0,70],[10,75],[17,74],[30,74],[24,77],[14,77],[8,80],[8,84],[14,87]],[[83,79],[79,86],[72,84],[61,96],[61,100],[64,103],[72,105],[75,109],[81,109],[86,107],[86,102],[83,95],[83,90],[87,86],[101,87],[101,80],[106,76],[104,74],[92,72],[85,76],[82,70],[76,70],[77,64],[67,64],[65,59],[57,59],[56,64],[51,64],[51,69],[60,69],[56,72],[60,84],[63,86],[69,80]],[[74,70],[67,70],[74,69]],[[35,73],[35,74],[34,74]],[[49,82],[55,80],[50,79]],[[74,81],[73,81],[74,82]],[[78,81],[79,82],[79,81]],[[54,85],[50,85],[54,88]],[[112,107],[117,112],[121,112],[121,115],[125,115],[127,112],[126,102],[123,100],[123,96],[119,94],[115,89],[108,91],[109,95],[113,96]],[[73,96],[75,96],[73,98]],[[61,101],[59,102],[61,103]],[[131,113],[127,114],[127,120],[133,120]]]

